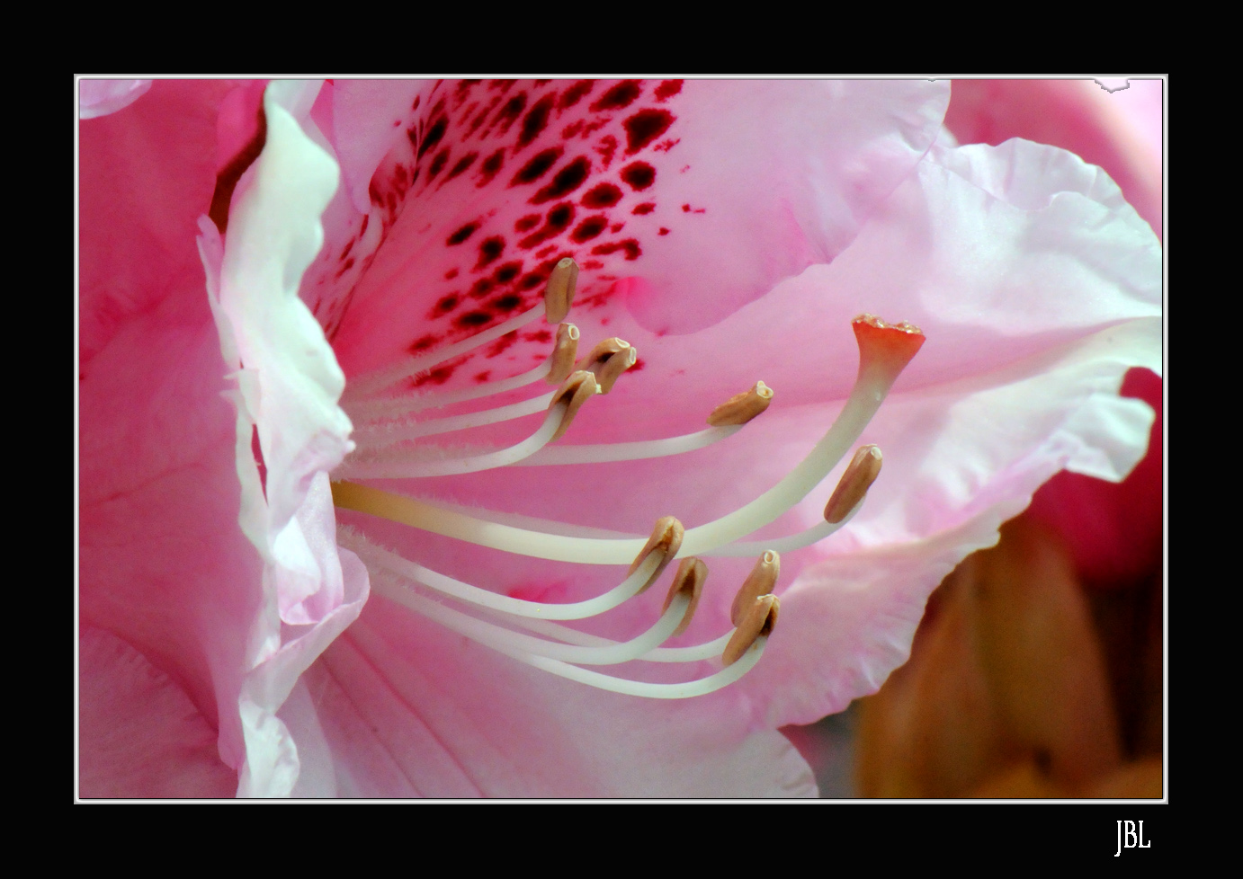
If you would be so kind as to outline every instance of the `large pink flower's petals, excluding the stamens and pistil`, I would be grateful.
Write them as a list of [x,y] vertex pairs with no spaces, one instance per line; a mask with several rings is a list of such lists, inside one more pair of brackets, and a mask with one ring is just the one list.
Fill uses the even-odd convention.
[[[1158,361],[1155,238],[1073,155],[935,146],[943,86],[273,86],[262,158],[237,181],[221,241],[198,221],[216,171],[205,144],[246,143],[236,123],[259,94],[226,92],[157,82],[81,127],[85,793],[225,792],[213,735],[242,793],[812,792],[773,730],[874,690],[936,582],[1044,479],[1119,478],[1142,453],[1151,412],[1116,390],[1127,366]],[[127,199],[139,181],[147,197]],[[639,360],[549,448],[686,435],[757,380],[773,405],[742,436],[676,457],[377,483],[436,507],[434,529],[553,520],[609,540],[672,514],[691,530],[804,473],[854,380],[851,318],[910,320],[929,339],[861,427],[886,459],[861,512],[784,554],[763,659],[709,695],[618,695],[474,643],[392,601],[404,587],[375,546],[552,603],[600,595],[625,576],[615,566],[334,516],[328,503],[329,471],[428,474],[480,437],[531,435],[510,421],[425,442],[430,457],[385,451],[385,420],[413,394],[536,366],[552,340],[542,323],[434,364],[400,395],[375,376],[537,305],[562,256],[580,266],[580,336],[626,339]],[[832,487],[820,477],[746,530],[776,516],[756,538],[771,541],[813,526]],[[363,535],[342,539],[370,577],[338,552],[334,519]],[[479,528],[470,536],[488,543]],[[710,581],[675,644],[731,628],[755,552],[720,550],[705,552]],[[368,580],[384,597],[367,598]],[[659,591],[584,631],[634,637],[661,615]],[[610,674],[717,667],[648,665]]]

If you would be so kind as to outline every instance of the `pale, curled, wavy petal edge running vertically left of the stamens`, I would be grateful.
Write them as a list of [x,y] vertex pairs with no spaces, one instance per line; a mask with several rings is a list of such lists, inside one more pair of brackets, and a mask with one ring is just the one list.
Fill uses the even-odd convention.
[[[337,551],[328,489],[327,472],[353,448],[349,420],[337,406],[344,376],[298,298],[302,273],[323,241],[319,215],[337,189],[337,165],[308,122],[317,89],[268,86],[264,153],[234,194],[222,250],[214,227],[200,226],[221,351],[242,367],[231,396],[240,524],[267,562],[239,699],[246,739],[240,793],[250,796],[295,790],[298,751],[276,713],[307,665],[358,616],[368,592],[362,564]],[[262,487],[251,431],[266,466]]]

